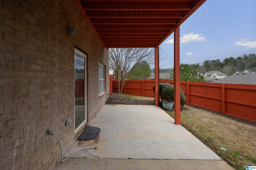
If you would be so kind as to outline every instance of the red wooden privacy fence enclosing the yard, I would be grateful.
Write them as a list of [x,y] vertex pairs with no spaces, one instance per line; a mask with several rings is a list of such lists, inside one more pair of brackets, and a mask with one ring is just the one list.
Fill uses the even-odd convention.
[[[173,80],[160,80],[159,82],[174,85]],[[154,83],[154,79],[128,80],[122,92],[154,97],[152,90]],[[180,81],[180,87],[189,105],[256,122],[256,85]],[[118,92],[116,80],[110,80],[110,92]]]

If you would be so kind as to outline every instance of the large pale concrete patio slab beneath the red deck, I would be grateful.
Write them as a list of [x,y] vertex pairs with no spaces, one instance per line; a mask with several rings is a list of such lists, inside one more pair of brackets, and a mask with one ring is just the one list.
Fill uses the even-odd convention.
[[[105,105],[90,126],[101,128],[100,141],[92,145],[97,150],[82,151],[72,158],[221,160],[153,105]],[[68,154],[81,148],[75,143]]]

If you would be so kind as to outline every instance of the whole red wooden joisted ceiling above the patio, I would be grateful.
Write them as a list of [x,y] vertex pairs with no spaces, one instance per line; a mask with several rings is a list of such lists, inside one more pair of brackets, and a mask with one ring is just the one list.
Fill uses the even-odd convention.
[[206,0],[75,0],[105,47],[158,47]]

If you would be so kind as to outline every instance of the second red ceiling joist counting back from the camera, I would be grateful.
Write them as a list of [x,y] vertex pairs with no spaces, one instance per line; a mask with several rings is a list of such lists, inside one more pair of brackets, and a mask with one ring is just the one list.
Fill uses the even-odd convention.
[[89,18],[182,18],[183,11],[87,11]]

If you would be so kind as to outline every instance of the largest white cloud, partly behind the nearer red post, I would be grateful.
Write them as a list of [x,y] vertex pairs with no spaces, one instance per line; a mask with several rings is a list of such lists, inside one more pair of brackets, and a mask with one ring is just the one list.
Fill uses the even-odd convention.
[[[202,34],[194,34],[193,32],[183,34],[183,36],[180,38],[180,43],[188,43],[194,41],[204,42],[206,41],[206,38]],[[174,43],[174,39],[170,39],[166,43]]]

